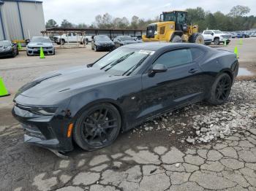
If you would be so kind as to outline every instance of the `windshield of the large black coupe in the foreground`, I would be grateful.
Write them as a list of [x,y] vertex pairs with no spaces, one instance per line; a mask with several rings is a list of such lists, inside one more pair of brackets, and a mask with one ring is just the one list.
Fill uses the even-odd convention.
[[105,70],[113,75],[129,76],[136,69],[139,69],[143,61],[152,54],[154,51],[118,48],[94,63],[92,67]]

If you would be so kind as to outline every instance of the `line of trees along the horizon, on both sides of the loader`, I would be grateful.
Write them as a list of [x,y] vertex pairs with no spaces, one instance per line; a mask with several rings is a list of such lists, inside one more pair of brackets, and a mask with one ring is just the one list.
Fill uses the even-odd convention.
[[[222,12],[208,12],[201,7],[195,9],[187,9],[188,24],[198,25],[199,30],[203,31],[208,29],[219,29],[221,31],[246,31],[250,28],[256,28],[256,17],[254,15],[244,16],[250,12],[249,7],[237,5],[230,9],[228,14]],[[95,20],[90,25],[86,23],[70,23],[64,19],[61,22],[61,27],[64,28],[106,28],[106,29],[146,29],[146,26],[150,23],[159,21],[159,16],[154,19],[143,19],[136,15],[131,20],[127,17],[113,17],[112,15],[105,13],[104,15],[97,15]],[[46,23],[46,28],[57,27],[55,20],[50,19]]]

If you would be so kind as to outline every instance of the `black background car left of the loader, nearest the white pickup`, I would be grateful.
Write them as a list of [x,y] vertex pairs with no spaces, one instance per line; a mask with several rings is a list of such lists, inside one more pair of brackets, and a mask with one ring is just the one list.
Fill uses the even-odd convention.
[[97,35],[91,39],[91,50],[113,50],[115,44],[107,35]]

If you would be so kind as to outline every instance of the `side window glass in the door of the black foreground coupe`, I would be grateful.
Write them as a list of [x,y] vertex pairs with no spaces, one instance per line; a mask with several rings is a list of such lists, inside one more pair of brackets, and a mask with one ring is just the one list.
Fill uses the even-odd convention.
[[173,66],[181,66],[186,63],[192,62],[192,53],[189,49],[173,50],[166,52],[157,58],[157,61],[154,64],[163,64],[167,68]]

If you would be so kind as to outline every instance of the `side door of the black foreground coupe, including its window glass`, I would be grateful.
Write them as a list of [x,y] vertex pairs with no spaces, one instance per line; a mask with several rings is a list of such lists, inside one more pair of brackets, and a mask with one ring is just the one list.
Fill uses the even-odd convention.
[[154,76],[148,75],[148,72],[143,74],[144,99],[138,117],[159,114],[203,98],[203,85],[200,82],[203,72],[193,61],[189,49],[167,51],[151,67],[156,64],[165,65],[167,71],[155,73]]

